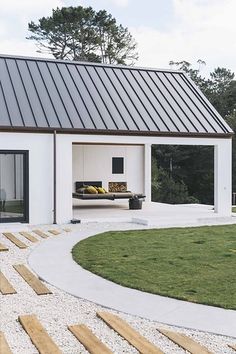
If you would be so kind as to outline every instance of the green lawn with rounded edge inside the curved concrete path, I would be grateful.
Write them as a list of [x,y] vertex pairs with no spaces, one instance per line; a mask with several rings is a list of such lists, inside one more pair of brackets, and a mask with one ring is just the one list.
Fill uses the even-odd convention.
[[236,225],[106,232],[72,256],[130,288],[236,309]]

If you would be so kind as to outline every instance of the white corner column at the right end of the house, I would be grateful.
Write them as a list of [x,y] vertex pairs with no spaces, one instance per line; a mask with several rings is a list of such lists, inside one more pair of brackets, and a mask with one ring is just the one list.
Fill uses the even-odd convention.
[[214,146],[215,212],[230,216],[232,208],[232,140],[222,139]]

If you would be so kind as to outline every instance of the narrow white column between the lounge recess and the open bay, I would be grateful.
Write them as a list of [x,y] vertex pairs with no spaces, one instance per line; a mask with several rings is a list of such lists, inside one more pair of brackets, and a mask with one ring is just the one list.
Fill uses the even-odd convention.
[[146,202],[152,201],[152,145],[144,145],[144,194]]

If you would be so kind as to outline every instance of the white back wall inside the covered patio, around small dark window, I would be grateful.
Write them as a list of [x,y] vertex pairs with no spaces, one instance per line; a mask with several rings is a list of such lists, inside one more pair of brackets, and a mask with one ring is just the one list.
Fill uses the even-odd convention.
[[[127,189],[144,191],[144,148],[127,145],[73,145],[73,179],[75,181],[127,182]],[[124,173],[112,174],[112,157],[124,158]]]

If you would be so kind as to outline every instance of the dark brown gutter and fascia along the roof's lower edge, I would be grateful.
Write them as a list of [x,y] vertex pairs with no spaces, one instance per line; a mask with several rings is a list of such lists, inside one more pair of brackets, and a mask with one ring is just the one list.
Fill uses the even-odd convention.
[[5,133],[44,133],[44,134],[81,134],[81,135],[120,135],[120,136],[153,136],[153,137],[183,137],[183,138],[223,138],[228,139],[234,133],[181,133],[181,132],[152,132],[132,130],[99,130],[99,129],[74,129],[74,128],[27,128],[0,126],[0,132]]

